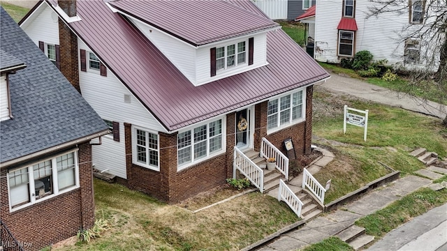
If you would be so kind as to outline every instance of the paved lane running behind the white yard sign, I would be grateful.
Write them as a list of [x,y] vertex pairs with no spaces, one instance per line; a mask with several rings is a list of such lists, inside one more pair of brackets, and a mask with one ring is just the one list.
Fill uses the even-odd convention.
[[352,77],[332,74],[330,79],[326,80],[323,84],[317,84],[317,86],[338,93],[348,93],[349,95],[365,98],[381,104],[402,107],[413,112],[437,116],[439,119],[444,119],[447,116],[446,105],[440,105],[436,102],[422,100],[420,98],[413,98],[404,93],[390,91],[389,89],[368,84],[367,82]]

